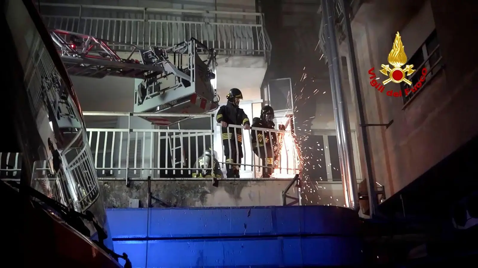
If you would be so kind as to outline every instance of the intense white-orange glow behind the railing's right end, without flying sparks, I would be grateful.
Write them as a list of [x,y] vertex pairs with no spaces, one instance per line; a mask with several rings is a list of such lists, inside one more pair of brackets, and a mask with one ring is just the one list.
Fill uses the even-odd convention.
[[290,120],[292,118],[284,122],[287,133],[279,135],[278,146],[280,152],[272,173],[274,178],[290,178],[302,172],[302,157],[295,142],[295,137],[291,133],[292,124],[288,124]]

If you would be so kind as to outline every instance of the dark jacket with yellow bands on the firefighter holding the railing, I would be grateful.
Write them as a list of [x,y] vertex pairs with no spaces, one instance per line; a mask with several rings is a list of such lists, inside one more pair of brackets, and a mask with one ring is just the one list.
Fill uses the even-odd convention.
[[[237,105],[234,105],[233,103],[228,102],[228,104],[222,105],[219,108],[219,111],[217,112],[217,115],[216,115],[216,121],[217,123],[221,123],[221,121],[224,121],[227,124],[244,125],[249,123],[249,118],[247,117],[247,114],[244,113],[244,110],[239,108]],[[228,129],[229,129],[229,132],[228,132]],[[241,129],[236,128],[235,131],[237,135],[237,141],[239,143],[242,143]],[[235,136],[233,136],[234,134],[233,127],[223,127],[221,128],[221,133],[222,133],[223,140],[235,138]]]

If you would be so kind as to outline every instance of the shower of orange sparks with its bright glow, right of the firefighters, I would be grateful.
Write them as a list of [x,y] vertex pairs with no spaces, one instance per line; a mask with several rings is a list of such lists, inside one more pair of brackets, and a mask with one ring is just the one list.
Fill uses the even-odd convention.
[[[319,43],[315,49],[317,49]],[[324,55],[320,57],[322,59]],[[304,87],[311,85],[307,85],[307,82],[315,82],[314,76],[309,77],[305,72],[305,66],[303,68],[303,74],[298,81],[299,83],[303,83],[302,88],[298,91],[293,98],[291,96],[287,96],[288,105],[290,105],[290,100],[294,100],[294,114],[302,113],[299,107],[304,107],[303,103],[306,102],[308,99],[313,97],[318,93],[325,94],[326,91],[320,90],[316,88],[312,94],[304,92]],[[301,86],[294,83],[294,88],[296,86]],[[296,91],[297,92],[297,91]],[[298,101],[301,101],[301,105],[297,105]],[[314,99],[315,102],[315,99]],[[292,105],[291,105],[292,106]],[[289,106],[289,107],[291,107]],[[309,113],[309,111],[304,111],[305,113]],[[290,120],[296,120],[297,118],[290,118]],[[298,188],[299,194],[303,197],[302,204],[303,205],[325,205],[325,206],[345,206],[344,205],[344,198],[341,197],[335,198],[334,196],[321,196],[319,193],[322,194],[332,194],[333,191],[331,188],[327,189],[326,184],[319,183],[320,181],[326,182],[327,181],[327,171],[326,171],[326,160],[325,160],[325,152],[324,152],[324,144],[320,144],[316,142],[316,144],[312,141],[308,141],[311,136],[314,136],[308,130],[302,130],[300,126],[309,126],[312,124],[312,121],[315,119],[315,116],[309,117],[304,122],[299,123],[295,122],[294,128],[295,131],[302,131],[305,134],[302,135],[293,135],[289,131],[291,130],[291,125],[286,125],[286,130],[288,131],[286,134],[279,137],[279,145],[280,145],[280,156],[279,159],[276,160],[275,169],[272,174],[272,177],[275,178],[291,178],[295,174],[301,174],[301,183],[300,188]],[[297,124],[299,123],[299,124]],[[332,170],[335,170],[336,167],[332,167]],[[313,174],[314,177],[310,178],[308,174]],[[294,188],[291,191],[295,191]]]

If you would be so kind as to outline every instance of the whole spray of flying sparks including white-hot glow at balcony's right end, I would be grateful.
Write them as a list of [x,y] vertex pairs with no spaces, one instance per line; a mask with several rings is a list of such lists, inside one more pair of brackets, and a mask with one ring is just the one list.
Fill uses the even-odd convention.
[[[322,54],[320,59],[323,57],[324,54]],[[289,100],[293,100],[293,113],[297,115],[309,113],[310,111],[307,111],[307,109],[302,111],[302,108],[305,107],[304,104],[309,100],[315,103],[318,98],[324,98],[324,94],[327,93],[323,89],[317,88],[315,84],[317,78],[310,73],[307,75],[305,66],[303,71],[300,79],[297,79],[293,85],[296,93],[293,97],[287,96],[287,104],[292,106]],[[331,176],[327,171],[328,167],[332,170],[335,170],[337,167],[326,163],[326,146],[323,144],[323,141],[316,140],[318,135],[314,135],[311,132],[312,124],[315,124],[312,121],[320,120],[321,116],[322,114],[320,113],[317,114],[318,118],[315,118],[315,116],[310,116],[309,118],[299,116],[304,122],[298,122],[298,124],[293,126],[295,133],[298,135],[292,135],[290,132],[282,135],[282,137],[278,135],[280,156],[276,156],[278,159],[274,163],[276,168],[273,171],[272,177],[292,178],[294,175],[300,174],[300,184],[297,187],[292,187],[289,193],[295,194],[299,192],[302,205],[345,207],[343,192],[339,190],[340,194],[338,194],[333,187],[329,187],[326,184],[329,180],[328,177]],[[295,117],[295,120],[297,119]],[[285,125],[286,130],[290,131],[291,126],[287,123]],[[257,172],[259,171],[259,169],[256,170]]]

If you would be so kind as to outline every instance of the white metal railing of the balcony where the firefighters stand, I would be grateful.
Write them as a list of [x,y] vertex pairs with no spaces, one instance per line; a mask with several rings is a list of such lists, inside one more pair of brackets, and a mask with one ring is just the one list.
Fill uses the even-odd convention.
[[[214,114],[83,113],[87,125],[90,116],[123,118],[118,121],[117,128],[87,128],[95,167],[101,179],[190,178],[196,170],[196,160],[209,148],[217,152],[217,160],[221,163],[221,170],[225,175],[226,156],[223,154],[221,133],[214,132],[217,127]],[[159,127],[141,118],[167,116],[188,116],[189,119],[169,127]],[[241,132],[243,131],[241,126],[231,125],[231,127],[241,128]],[[300,171],[300,156],[294,147],[290,130],[261,128],[253,130],[259,133],[275,133],[279,137],[277,153],[265,157],[275,158],[273,177],[292,178]],[[245,132],[243,150],[253,151],[250,131],[243,132]],[[260,160],[265,155],[260,155],[261,158],[253,153],[249,156],[244,155],[240,164],[241,178],[261,177],[262,168],[267,168]]]

